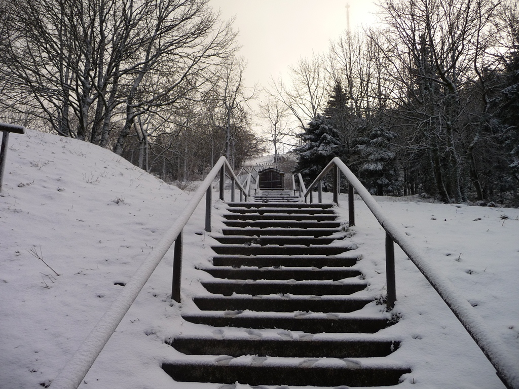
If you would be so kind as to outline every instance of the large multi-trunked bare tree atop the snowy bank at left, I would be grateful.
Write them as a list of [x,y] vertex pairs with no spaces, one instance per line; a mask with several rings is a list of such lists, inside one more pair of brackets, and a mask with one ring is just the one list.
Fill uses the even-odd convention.
[[234,51],[208,1],[6,0],[1,104],[120,154],[136,117],[211,82]]

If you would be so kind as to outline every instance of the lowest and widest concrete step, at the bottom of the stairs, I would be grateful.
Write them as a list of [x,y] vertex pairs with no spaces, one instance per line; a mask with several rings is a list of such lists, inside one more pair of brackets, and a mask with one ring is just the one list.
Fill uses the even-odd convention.
[[[294,385],[294,386],[386,386],[397,385],[402,374],[411,372],[406,367],[363,366],[364,363],[343,361],[339,366],[312,365],[309,361],[297,359],[293,365],[272,366],[262,363],[251,364],[250,358],[243,365],[215,363],[215,358],[207,362],[199,358],[193,361],[162,364],[162,369],[175,381],[215,382],[222,384]],[[222,360],[222,359],[218,359]],[[225,359],[223,359],[225,360]],[[305,365],[306,363],[306,365]]]

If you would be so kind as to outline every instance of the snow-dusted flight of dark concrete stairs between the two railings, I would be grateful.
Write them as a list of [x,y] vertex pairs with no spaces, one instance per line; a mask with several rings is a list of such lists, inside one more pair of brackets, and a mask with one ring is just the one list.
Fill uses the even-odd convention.
[[162,369],[186,382],[398,384],[411,370],[385,360],[399,346],[376,334],[388,315],[362,312],[376,297],[332,204],[281,191],[255,200],[228,204],[213,266],[203,269],[214,277],[202,282],[208,294],[194,298],[199,312],[182,315],[208,335],[174,338],[185,356]]

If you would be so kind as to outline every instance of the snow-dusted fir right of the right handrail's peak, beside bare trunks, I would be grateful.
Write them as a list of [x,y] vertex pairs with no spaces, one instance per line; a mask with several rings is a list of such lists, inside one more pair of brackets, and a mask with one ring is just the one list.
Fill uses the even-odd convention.
[[366,131],[355,147],[359,179],[372,195],[395,195],[399,190],[397,155],[391,146],[396,136],[387,128],[375,127]]

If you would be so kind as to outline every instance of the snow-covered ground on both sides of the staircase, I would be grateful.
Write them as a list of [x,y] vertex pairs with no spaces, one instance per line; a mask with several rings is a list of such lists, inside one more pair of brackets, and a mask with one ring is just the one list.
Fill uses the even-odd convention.
[[[37,388],[57,376],[190,196],[85,142],[36,131],[11,134],[9,142],[0,196],[0,388]],[[519,366],[519,210],[377,200],[459,288]],[[346,198],[341,201],[346,205]],[[225,205],[215,200],[213,207],[217,233]],[[338,210],[346,221],[345,207]],[[373,295],[382,295],[384,231],[361,201],[356,214],[350,242],[363,256],[358,267]],[[81,388],[229,387],[172,384],[160,364],[181,355],[165,341],[194,333],[302,335],[214,330],[182,320],[182,310],[196,309],[190,297],[206,293],[199,280],[211,277],[195,269],[209,265],[215,242],[203,231],[203,215],[202,202],[184,229],[183,302],[170,299],[168,253]],[[381,335],[402,339],[389,358],[413,369],[399,387],[502,389],[494,368],[400,249],[396,262],[394,312],[400,322]],[[365,309],[373,312],[381,306],[373,303]]]

